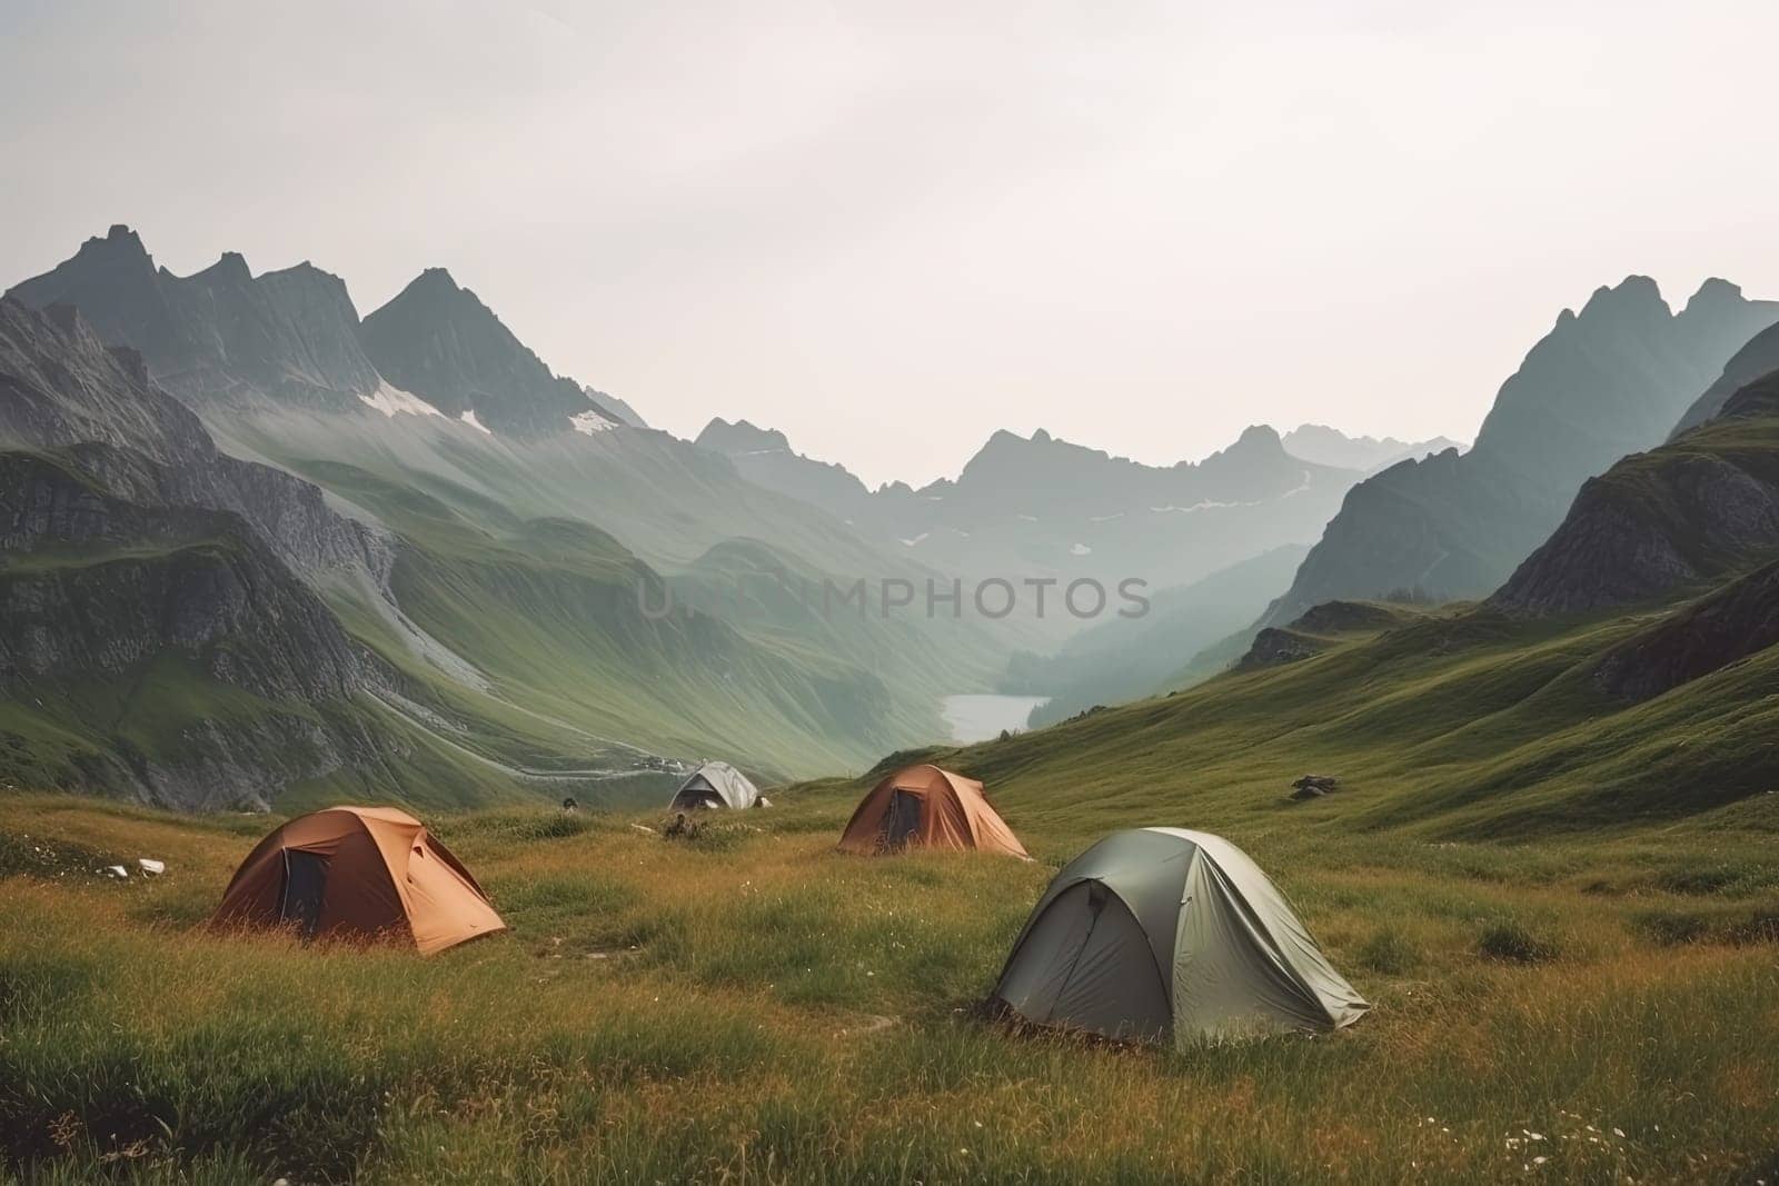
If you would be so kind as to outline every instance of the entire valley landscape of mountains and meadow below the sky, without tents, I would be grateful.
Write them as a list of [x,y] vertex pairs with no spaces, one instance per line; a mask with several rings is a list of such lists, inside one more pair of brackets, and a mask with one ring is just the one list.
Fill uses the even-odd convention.
[[[870,491],[644,427],[443,270],[359,320],[114,231],[21,290],[57,299],[0,301],[5,1174],[1779,1174],[1767,304],[1601,290],[1468,452],[1000,432]],[[1051,613],[966,608],[996,580]],[[669,818],[710,759],[770,807]],[[914,763],[1016,839],[836,852]],[[345,800],[425,813],[505,932],[208,925]],[[1258,861],[1370,1012],[1167,1047],[996,1015],[1050,877],[1156,825]]]

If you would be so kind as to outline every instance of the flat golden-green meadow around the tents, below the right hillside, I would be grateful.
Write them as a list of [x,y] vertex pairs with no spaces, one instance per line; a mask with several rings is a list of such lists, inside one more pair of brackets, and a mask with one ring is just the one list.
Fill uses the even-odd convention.
[[[1701,823],[1660,841],[1501,848],[1226,829],[1375,1010],[1336,1035],[1174,1053],[1016,1033],[977,1010],[1076,830],[1009,805],[1034,864],[841,857],[831,845],[854,793],[785,793],[692,841],[635,827],[653,816],[438,818],[512,932],[431,960],[203,932],[263,818],[0,798],[7,1172],[1779,1174],[1770,832],[1729,843]],[[167,875],[89,873],[135,855]]]

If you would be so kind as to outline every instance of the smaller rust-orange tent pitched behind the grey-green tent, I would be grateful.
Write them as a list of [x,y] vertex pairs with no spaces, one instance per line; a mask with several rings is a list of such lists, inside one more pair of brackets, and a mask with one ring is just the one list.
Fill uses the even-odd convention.
[[872,788],[840,836],[840,852],[980,848],[1025,857],[982,784],[938,766],[904,766]]

